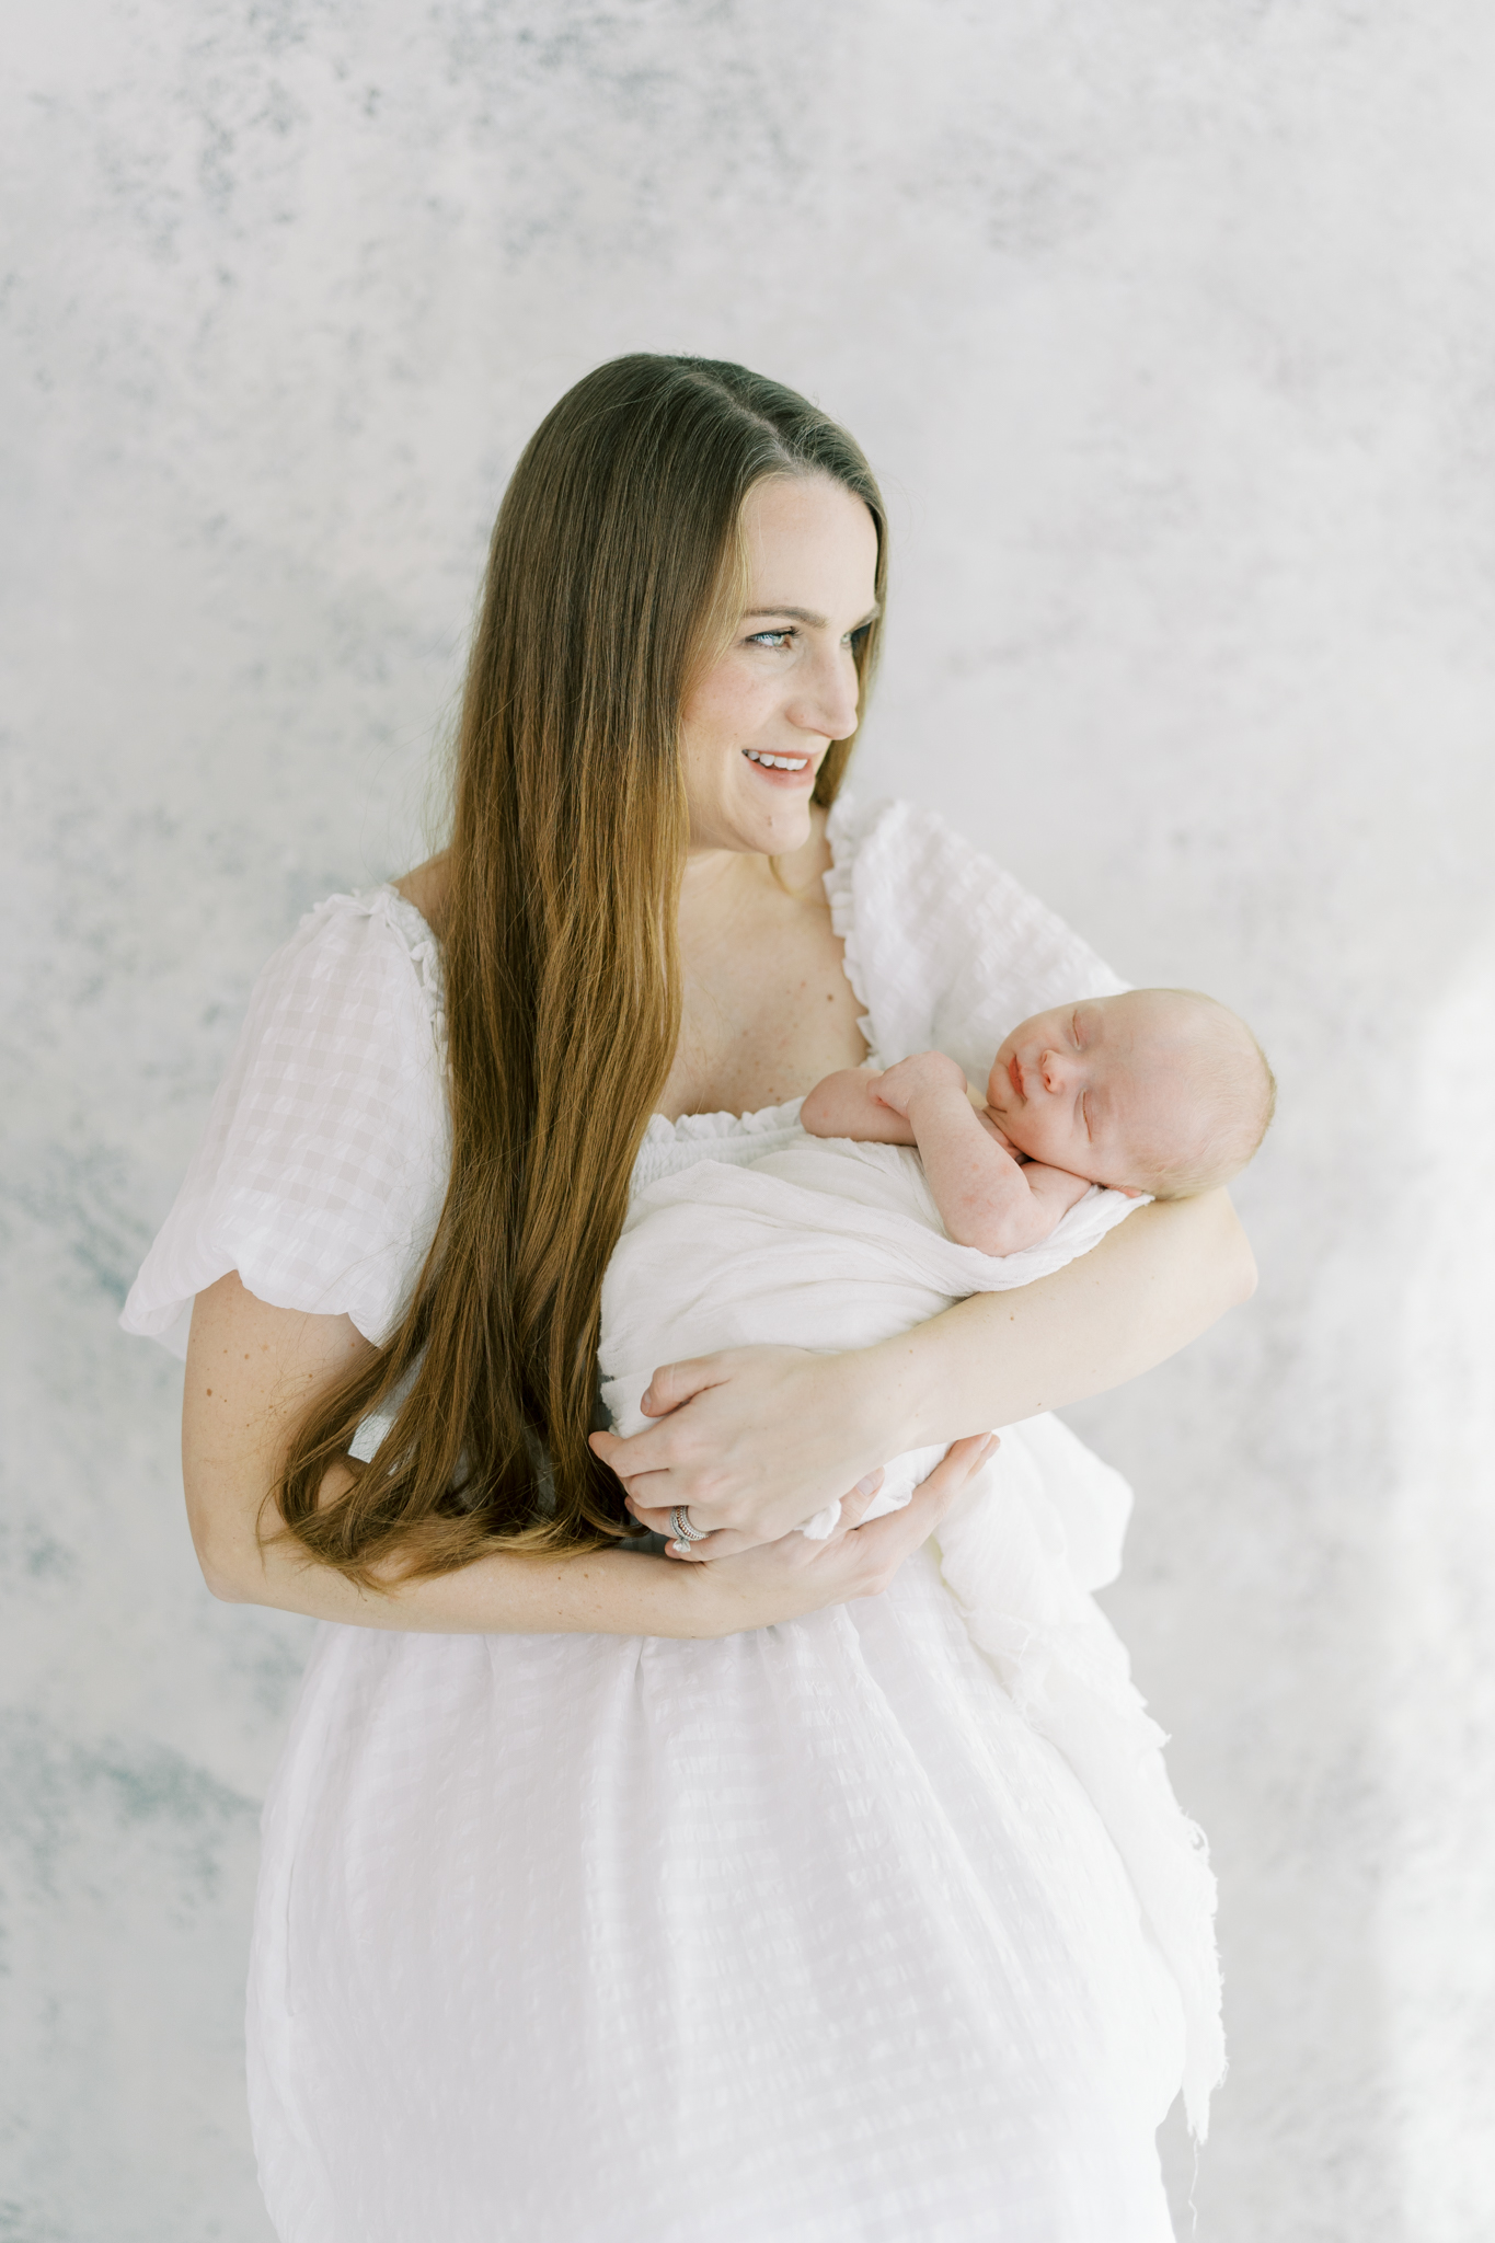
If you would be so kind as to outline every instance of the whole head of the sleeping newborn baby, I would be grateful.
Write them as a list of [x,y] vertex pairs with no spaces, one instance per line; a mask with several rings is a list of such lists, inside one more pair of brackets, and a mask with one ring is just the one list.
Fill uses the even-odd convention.
[[1033,1014],[986,1086],[993,1122],[1029,1160],[1159,1200],[1244,1169],[1275,1097],[1246,1023],[1192,989],[1127,989]]

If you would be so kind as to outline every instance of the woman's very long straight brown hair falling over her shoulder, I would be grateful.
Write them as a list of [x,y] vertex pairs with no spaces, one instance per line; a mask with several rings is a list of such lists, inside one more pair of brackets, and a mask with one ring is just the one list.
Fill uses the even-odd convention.
[[[832,476],[888,525],[852,437],[715,359],[598,366],[524,449],[493,529],[457,738],[444,958],[453,1166],[399,1330],[296,1431],[280,1516],[352,1579],[632,1532],[592,1456],[598,1299],[681,1016],[679,711],[742,612],[742,505]],[[863,702],[879,624],[856,641]],[[852,751],[836,740],[816,801]],[[377,1456],[318,1507],[359,1422]]]

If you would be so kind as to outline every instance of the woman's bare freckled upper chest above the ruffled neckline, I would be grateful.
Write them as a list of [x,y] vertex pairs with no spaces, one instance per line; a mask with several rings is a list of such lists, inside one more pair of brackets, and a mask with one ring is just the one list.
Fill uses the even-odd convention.
[[659,1110],[755,1113],[823,1074],[858,1068],[867,1045],[829,911],[740,929],[684,958],[684,1014]]

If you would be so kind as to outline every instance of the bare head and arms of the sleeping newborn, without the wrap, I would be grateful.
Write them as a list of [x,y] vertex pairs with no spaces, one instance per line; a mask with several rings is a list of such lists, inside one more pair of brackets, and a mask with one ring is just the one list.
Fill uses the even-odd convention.
[[811,1137],[912,1144],[948,1236],[1020,1254],[1089,1191],[1186,1198],[1244,1169],[1275,1086],[1233,1012],[1192,989],[1127,989],[1040,1012],[997,1052],[986,1101],[944,1052],[847,1068],[805,1099]]

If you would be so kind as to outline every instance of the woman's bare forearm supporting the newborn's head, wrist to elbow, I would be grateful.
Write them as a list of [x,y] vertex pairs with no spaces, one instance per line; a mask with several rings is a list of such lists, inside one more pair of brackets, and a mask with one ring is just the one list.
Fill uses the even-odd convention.
[[975,1294],[867,1348],[858,1370],[888,1438],[912,1449],[1121,1386],[1177,1355],[1253,1287],[1255,1263],[1228,1193],[1159,1200],[1053,1276]]

